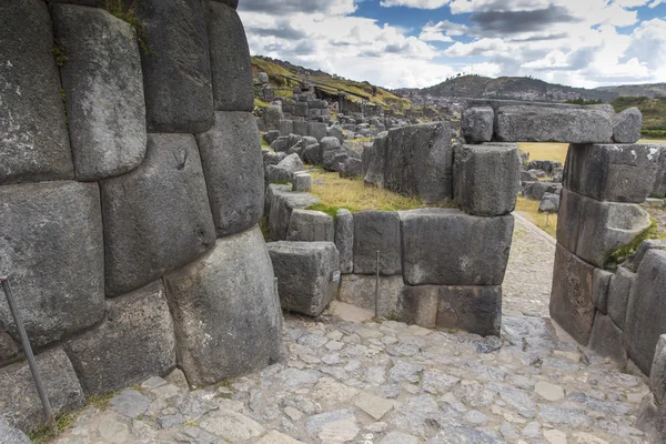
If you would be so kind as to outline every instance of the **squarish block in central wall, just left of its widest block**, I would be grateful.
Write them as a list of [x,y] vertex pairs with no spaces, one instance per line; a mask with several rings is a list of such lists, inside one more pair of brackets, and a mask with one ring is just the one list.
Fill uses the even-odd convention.
[[354,214],[354,273],[401,274],[400,215],[395,211],[361,211]]

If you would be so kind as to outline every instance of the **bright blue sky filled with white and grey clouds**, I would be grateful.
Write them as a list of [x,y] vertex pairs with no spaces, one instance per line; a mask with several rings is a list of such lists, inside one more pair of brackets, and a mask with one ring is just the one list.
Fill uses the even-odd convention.
[[666,0],[240,0],[253,56],[384,88],[666,82]]

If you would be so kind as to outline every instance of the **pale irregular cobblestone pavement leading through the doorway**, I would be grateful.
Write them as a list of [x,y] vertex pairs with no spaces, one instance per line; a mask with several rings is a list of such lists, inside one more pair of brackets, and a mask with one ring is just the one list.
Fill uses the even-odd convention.
[[195,391],[180,371],[151,379],[88,407],[57,442],[643,443],[644,381],[519,314],[547,313],[553,249],[521,223],[514,242],[502,339],[335,304],[316,322],[285,319],[280,364]]

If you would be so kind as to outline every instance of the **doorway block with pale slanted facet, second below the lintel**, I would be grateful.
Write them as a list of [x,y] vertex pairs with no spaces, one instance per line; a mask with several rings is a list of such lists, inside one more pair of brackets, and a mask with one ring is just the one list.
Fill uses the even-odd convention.
[[602,269],[613,252],[650,226],[649,214],[635,203],[599,202],[582,196],[576,255]]

